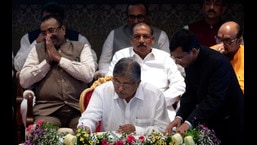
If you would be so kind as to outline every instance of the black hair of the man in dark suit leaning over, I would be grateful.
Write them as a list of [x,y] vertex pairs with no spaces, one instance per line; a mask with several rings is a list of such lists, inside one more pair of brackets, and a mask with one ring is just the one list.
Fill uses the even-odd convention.
[[190,52],[192,48],[199,49],[200,44],[195,34],[188,29],[180,29],[174,33],[170,40],[170,51],[182,47],[184,52]]

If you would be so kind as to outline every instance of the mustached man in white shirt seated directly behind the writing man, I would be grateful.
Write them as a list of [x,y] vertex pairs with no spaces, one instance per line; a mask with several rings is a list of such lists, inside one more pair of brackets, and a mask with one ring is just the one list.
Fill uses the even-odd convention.
[[[170,57],[170,54],[153,48],[153,29],[144,22],[132,28],[131,47],[117,51],[111,61],[107,76],[111,76],[115,64],[124,57],[132,57],[141,66],[141,79],[159,88],[166,98],[170,120],[176,115],[176,104],[185,91],[184,77]],[[179,107],[177,107],[179,108]]]

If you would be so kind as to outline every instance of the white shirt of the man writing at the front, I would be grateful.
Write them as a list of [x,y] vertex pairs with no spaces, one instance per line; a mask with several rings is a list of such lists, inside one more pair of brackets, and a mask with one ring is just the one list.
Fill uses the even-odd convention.
[[101,131],[116,131],[120,125],[133,124],[137,134],[151,134],[152,130],[165,132],[170,120],[163,93],[141,81],[135,96],[127,103],[114,91],[112,81],[95,88],[78,126],[88,126],[94,132],[98,121]]

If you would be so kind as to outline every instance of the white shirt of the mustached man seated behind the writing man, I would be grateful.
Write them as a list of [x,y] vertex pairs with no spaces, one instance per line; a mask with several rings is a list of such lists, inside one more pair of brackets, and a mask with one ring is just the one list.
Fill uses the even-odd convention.
[[141,80],[151,83],[164,93],[170,120],[173,120],[176,111],[172,104],[179,101],[179,96],[185,92],[186,85],[170,54],[152,48],[152,52],[142,59],[133,51],[133,47],[124,48],[114,54],[107,76],[112,75],[115,64],[123,57],[133,57],[141,66]]

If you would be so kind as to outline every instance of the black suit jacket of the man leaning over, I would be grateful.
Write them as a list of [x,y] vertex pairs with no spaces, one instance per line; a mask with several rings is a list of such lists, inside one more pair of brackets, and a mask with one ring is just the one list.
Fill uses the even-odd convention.
[[[198,58],[185,68],[186,91],[177,116],[196,126],[214,129],[222,144],[241,144],[244,131],[244,95],[229,60],[200,47]],[[228,141],[228,142],[227,142]]]

